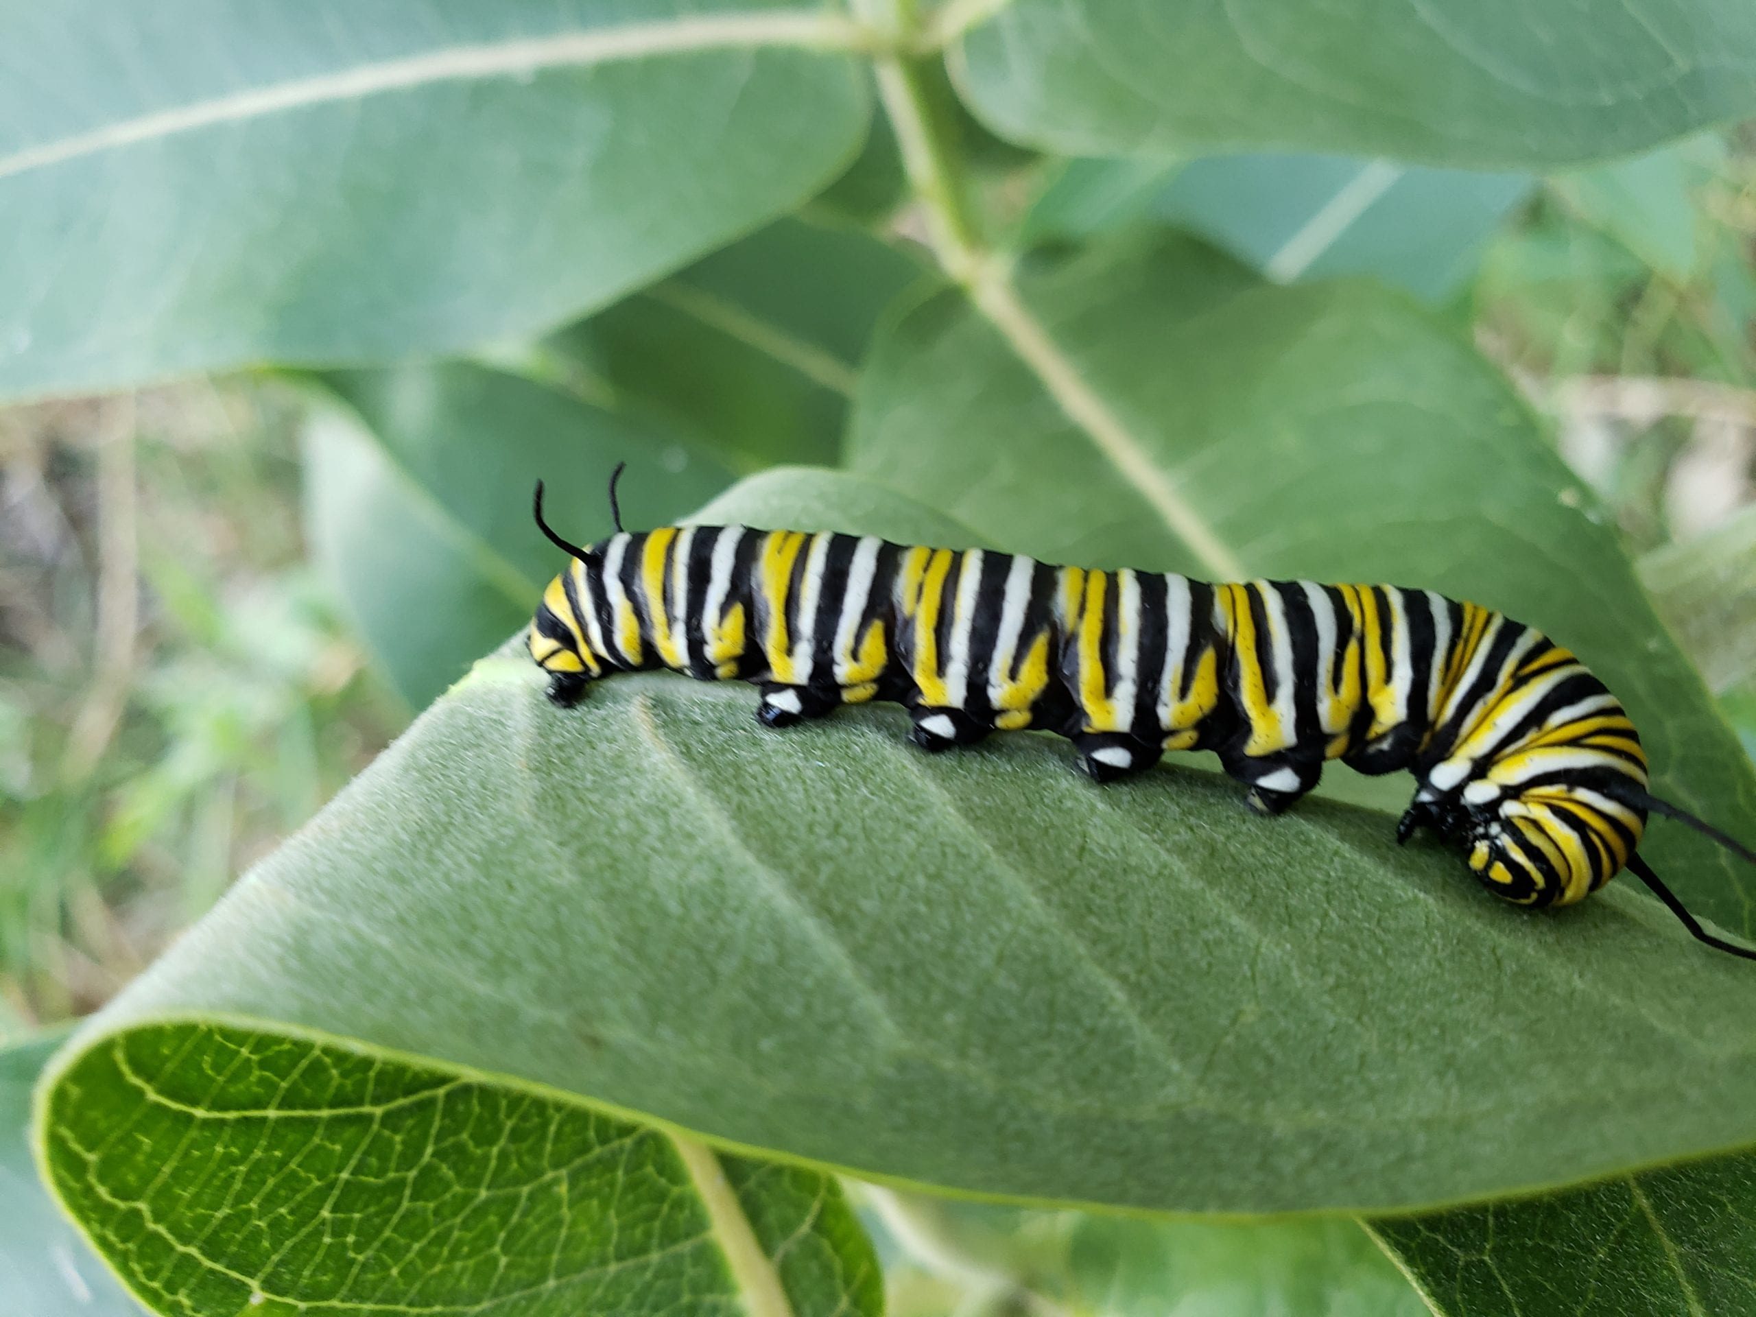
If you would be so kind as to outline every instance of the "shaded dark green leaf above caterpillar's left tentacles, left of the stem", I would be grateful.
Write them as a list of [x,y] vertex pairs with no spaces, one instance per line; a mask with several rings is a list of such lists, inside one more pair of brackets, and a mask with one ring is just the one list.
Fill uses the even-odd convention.
[[871,234],[780,220],[551,349],[729,464],[834,462],[873,325],[920,276]]

